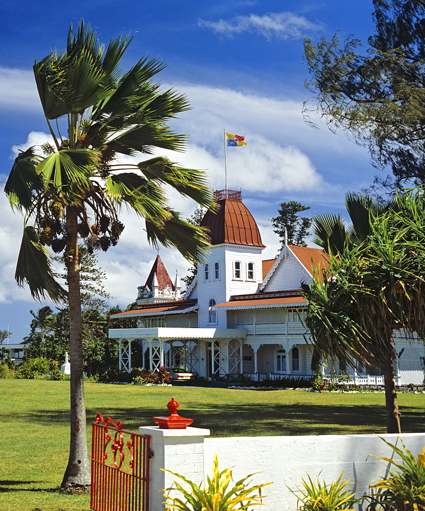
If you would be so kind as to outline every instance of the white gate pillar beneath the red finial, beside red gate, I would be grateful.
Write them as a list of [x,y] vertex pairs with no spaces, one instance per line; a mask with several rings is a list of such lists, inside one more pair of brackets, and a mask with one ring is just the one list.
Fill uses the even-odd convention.
[[[174,481],[181,483],[181,480],[161,469],[171,470],[200,484],[204,480],[204,438],[209,435],[209,429],[160,429],[158,426],[143,426],[139,428],[139,433],[150,435],[150,448],[154,453],[149,470],[149,509],[163,511],[165,506],[162,490],[175,486]],[[173,497],[181,497],[175,490],[167,493]]]

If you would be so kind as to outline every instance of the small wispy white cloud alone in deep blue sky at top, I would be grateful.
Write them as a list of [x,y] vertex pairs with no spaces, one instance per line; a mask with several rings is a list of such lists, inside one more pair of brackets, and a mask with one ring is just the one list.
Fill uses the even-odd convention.
[[277,39],[300,39],[305,32],[317,31],[321,25],[314,24],[304,16],[297,16],[292,12],[274,12],[258,16],[237,16],[229,21],[198,21],[200,27],[213,30],[216,34],[232,37],[242,32],[256,33],[264,36],[267,40],[273,37]]

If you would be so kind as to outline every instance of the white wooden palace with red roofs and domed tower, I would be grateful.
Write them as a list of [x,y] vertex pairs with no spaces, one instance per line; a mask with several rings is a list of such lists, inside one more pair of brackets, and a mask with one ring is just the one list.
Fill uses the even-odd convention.
[[[238,191],[215,192],[216,213],[206,212],[207,261],[180,296],[157,255],[136,310],[114,317],[136,317],[138,328],[109,330],[120,340],[120,370],[131,370],[131,345],[138,343],[145,369],[184,367],[203,378],[232,380],[241,374],[261,381],[278,376],[311,376],[309,332],[303,320],[308,303],[300,283],[312,281],[312,267],[326,267],[322,250],[285,244],[278,257],[263,260],[258,226]],[[313,264],[313,266],[312,266]],[[396,384],[424,383],[424,344],[394,335]],[[382,384],[379,369],[351,371],[360,384]],[[325,370],[325,368],[324,368]],[[372,371],[373,372],[373,371]]]

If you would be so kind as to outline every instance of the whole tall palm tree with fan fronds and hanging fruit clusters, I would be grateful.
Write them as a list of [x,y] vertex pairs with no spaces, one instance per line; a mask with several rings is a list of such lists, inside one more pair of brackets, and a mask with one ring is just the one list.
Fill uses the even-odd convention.
[[[161,91],[151,79],[164,68],[140,59],[122,72],[130,37],[112,39],[105,49],[81,21],[70,27],[67,48],[35,62],[34,75],[54,144],[20,153],[5,191],[12,208],[25,215],[15,278],[33,297],[68,301],[70,357],[70,454],[62,486],[90,484],[87,456],[81,339],[79,236],[90,250],[115,245],[124,225],[122,206],[145,220],[153,245],[173,245],[185,258],[202,259],[207,247],[200,227],[183,221],[167,202],[162,185],[211,207],[203,172],[181,168],[165,157],[137,165],[122,155],[153,154],[154,148],[182,150],[186,135],[166,122],[190,108],[173,89]],[[52,122],[54,121],[54,122]],[[32,222],[32,223],[30,223]],[[50,253],[64,252],[67,292],[58,284]]]

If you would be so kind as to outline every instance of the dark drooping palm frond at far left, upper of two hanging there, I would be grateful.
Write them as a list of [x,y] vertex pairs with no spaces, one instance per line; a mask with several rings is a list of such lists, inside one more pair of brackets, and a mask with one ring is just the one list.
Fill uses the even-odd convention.
[[5,192],[12,208],[21,212],[29,210],[33,193],[43,189],[43,181],[36,170],[37,158],[34,147],[18,154],[6,181]]

